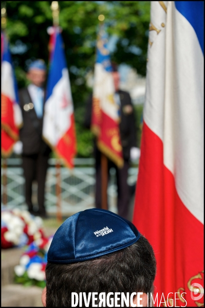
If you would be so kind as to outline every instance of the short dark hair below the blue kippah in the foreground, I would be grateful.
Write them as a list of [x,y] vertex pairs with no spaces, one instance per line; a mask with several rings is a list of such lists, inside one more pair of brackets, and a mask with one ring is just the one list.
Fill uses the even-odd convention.
[[141,235],[133,245],[100,258],[72,264],[48,262],[46,306],[71,307],[71,292],[86,296],[88,292],[151,293],[155,275],[153,248]]

